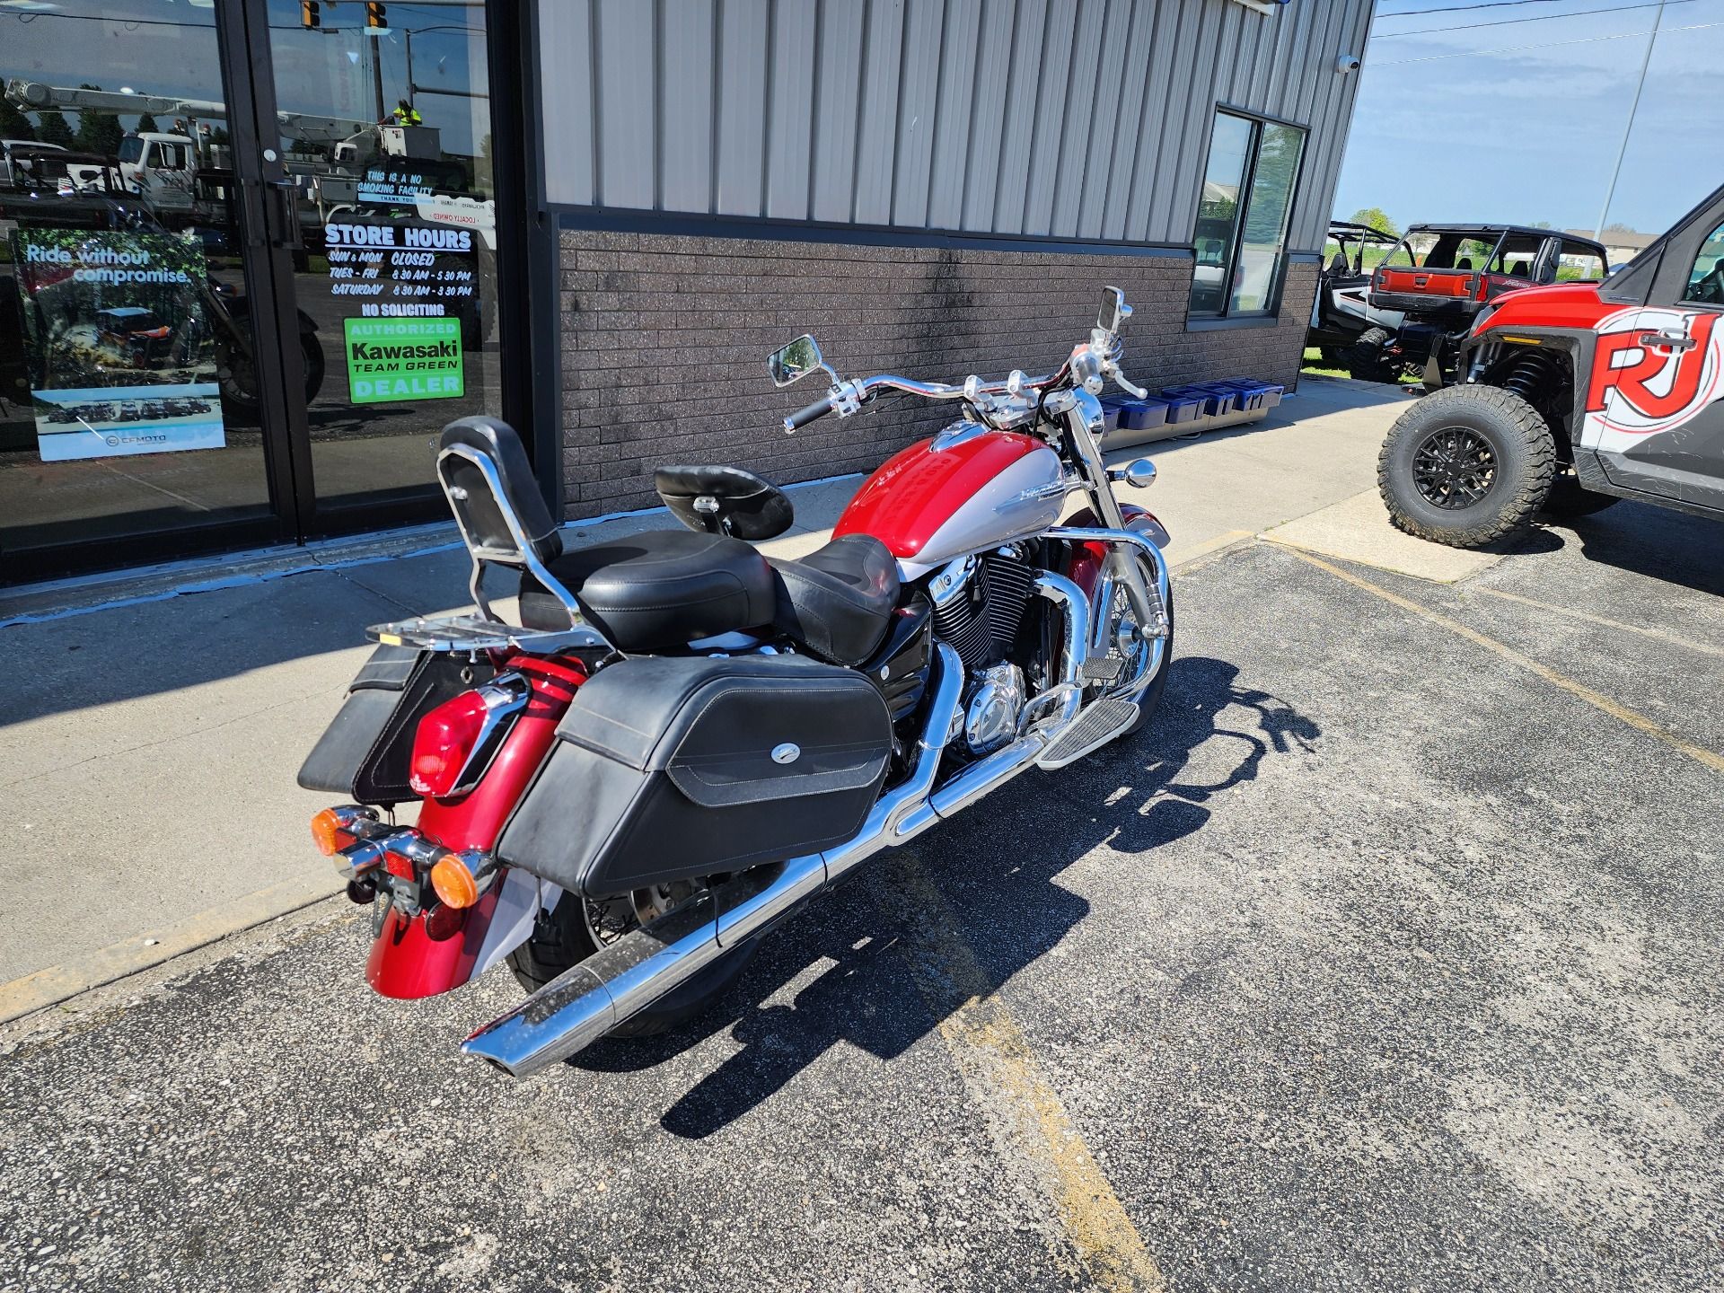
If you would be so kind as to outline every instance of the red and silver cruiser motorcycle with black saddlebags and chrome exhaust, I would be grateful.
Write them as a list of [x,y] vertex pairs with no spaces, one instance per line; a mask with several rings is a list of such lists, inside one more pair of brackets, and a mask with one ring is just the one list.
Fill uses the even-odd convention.
[[[464,1050],[515,1076],[664,1031],[872,853],[1141,728],[1172,643],[1167,534],[1114,497],[1155,467],[1096,447],[1103,383],[1141,395],[1129,314],[1107,288],[1059,372],[962,386],[843,381],[812,336],[779,350],[779,386],[831,378],[786,431],[881,391],[960,410],[800,560],[752,547],[793,512],[736,467],[657,471],[686,529],[564,552],[515,433],[452,422],[438,478],[476,612],[367,629],[381,645],[300,771],[355,800],[312,836],[374,903],[372,988],[429,996],[507,959],[531,995]],[[491,607],[498,571],[519,626]]]

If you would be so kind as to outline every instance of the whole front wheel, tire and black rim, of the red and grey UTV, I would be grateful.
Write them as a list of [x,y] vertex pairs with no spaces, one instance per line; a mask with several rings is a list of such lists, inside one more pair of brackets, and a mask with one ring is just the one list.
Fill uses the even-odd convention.
[[1377,455],[1377,488],[1395,526],[1452,548],[1483,548],[1529,526],[1555,472],[1550,426],[1496,386],[1426,395]]

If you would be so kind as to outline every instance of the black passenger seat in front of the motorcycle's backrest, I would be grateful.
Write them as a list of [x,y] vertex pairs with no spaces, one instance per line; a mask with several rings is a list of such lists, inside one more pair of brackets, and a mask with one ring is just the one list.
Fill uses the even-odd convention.
[[[726,534],[652,529],[564,552],[547,562],[581,614],[619,652],[655,652],[772,622],[772,569]],[[521,574],[521,622],[569,628],[555,595]]]

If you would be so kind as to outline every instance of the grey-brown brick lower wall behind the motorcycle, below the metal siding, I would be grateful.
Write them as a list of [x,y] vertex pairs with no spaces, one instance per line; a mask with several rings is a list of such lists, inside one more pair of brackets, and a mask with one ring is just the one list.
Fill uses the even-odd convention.
[[814,333],[843,376],[929,381],[1048,372],[1088,336],[1102,286],[1126,291],[1126,374],[1150,386],[1298,378],[1315,264],[1295,264],[1274,328],[1184,331],[1184,257],[981,252],[564,231],[564,510],[657,503],[660,462],[728,462],[790,483],[872,471],[955,415],[884,395],[795,436],[784,414],[821,378],[778,390],[765,357]]

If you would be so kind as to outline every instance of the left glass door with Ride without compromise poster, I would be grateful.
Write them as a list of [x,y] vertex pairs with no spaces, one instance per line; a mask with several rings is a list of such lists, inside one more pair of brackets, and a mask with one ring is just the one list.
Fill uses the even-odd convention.
[[0,7],[0,583],[295,533],[221,67],[197,0]]

